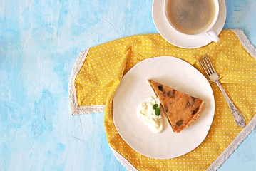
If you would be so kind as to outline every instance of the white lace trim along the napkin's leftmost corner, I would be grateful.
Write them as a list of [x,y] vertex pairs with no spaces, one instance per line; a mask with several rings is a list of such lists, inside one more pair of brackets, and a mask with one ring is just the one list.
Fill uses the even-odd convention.
[[83,66],[83,62],[86,60],[86,56],[89,49],[86,51],[82,51],[74,65],[73,71],[71,73],[71,77],[69,78],[68,90],[69,90],[69,100],[70,100],[70,108],[72,115],[78,115],[81,113],[103,113],[105,110],[105,105],[90,105],[90,106],[79,106],[78,100],[76,98],[76,88],[75,88],[75,79]]

